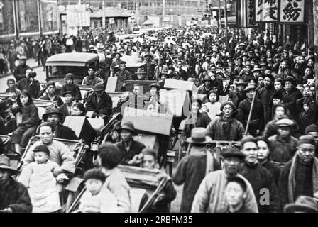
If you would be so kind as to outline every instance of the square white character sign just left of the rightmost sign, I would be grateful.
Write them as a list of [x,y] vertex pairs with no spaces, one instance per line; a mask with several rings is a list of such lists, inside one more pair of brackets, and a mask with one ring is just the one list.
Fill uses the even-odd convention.
[[256,0],[256,22],[278,21],[278,0]]

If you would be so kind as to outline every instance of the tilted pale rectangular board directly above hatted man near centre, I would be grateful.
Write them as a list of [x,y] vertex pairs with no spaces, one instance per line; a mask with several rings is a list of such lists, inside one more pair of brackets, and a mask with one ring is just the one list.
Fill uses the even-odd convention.
[[121,125],[127,121],[131,121],[137,131],[170,135],[172,118],[172,115],[158,114],[155,112],[143,111],[142,109],[126,107]]

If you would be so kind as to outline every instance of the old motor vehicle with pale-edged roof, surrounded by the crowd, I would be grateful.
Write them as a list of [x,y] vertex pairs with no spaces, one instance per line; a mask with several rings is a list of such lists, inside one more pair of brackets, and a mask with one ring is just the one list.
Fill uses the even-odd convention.
[[[74,83],[81,84],[89,67],[99,76],[99,56],[94,53],[71,52],[53,55],[45,63],[46,82],[55,82],[58,93],[65,84],[65,75],[74,74]],[[40,92],[42,95],[44,90]]]

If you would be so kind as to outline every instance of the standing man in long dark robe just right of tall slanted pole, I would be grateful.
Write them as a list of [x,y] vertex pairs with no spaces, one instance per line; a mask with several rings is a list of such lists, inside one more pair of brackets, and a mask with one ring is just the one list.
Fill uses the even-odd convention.
[[272,116],[272,96],[275,92],[274,77],[272,74],[265,74],[264,87],[258,90],[258,97],[264,107],[264,121],[265,124],[271,120]]

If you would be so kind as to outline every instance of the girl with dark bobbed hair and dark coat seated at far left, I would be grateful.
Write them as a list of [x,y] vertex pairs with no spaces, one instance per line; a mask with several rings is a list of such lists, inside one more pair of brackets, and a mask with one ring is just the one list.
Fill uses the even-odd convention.
[[12,108],[13,113],[21,112],[22,122],[18,123],[18,128],[13,132],[11,142],[15,145],[16,153],[21,153],[21,148],[28,145],[28,140],[35,133],[40,122],[38,117],[38,107],[33,104],[31,94],[22,91],[17,98],[18,106]]

